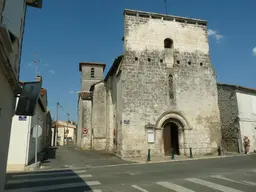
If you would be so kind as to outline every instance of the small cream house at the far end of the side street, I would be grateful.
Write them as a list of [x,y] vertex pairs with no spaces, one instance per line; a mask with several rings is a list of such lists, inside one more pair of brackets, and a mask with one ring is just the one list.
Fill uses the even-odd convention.
[[[52,133],[54,133],[54,129],[56,126],[56,122],[53,124]],[[54,135],[52,135],[52,145],[54,141]],[[65,138],[65,139],[64,139]],[[75,143],[76,140],[76,125],[74,122],[67,121],[58,121],[58,138],[57,145],[65,145],[68,142]],[[64,143],[65,141],[65,143]]]

